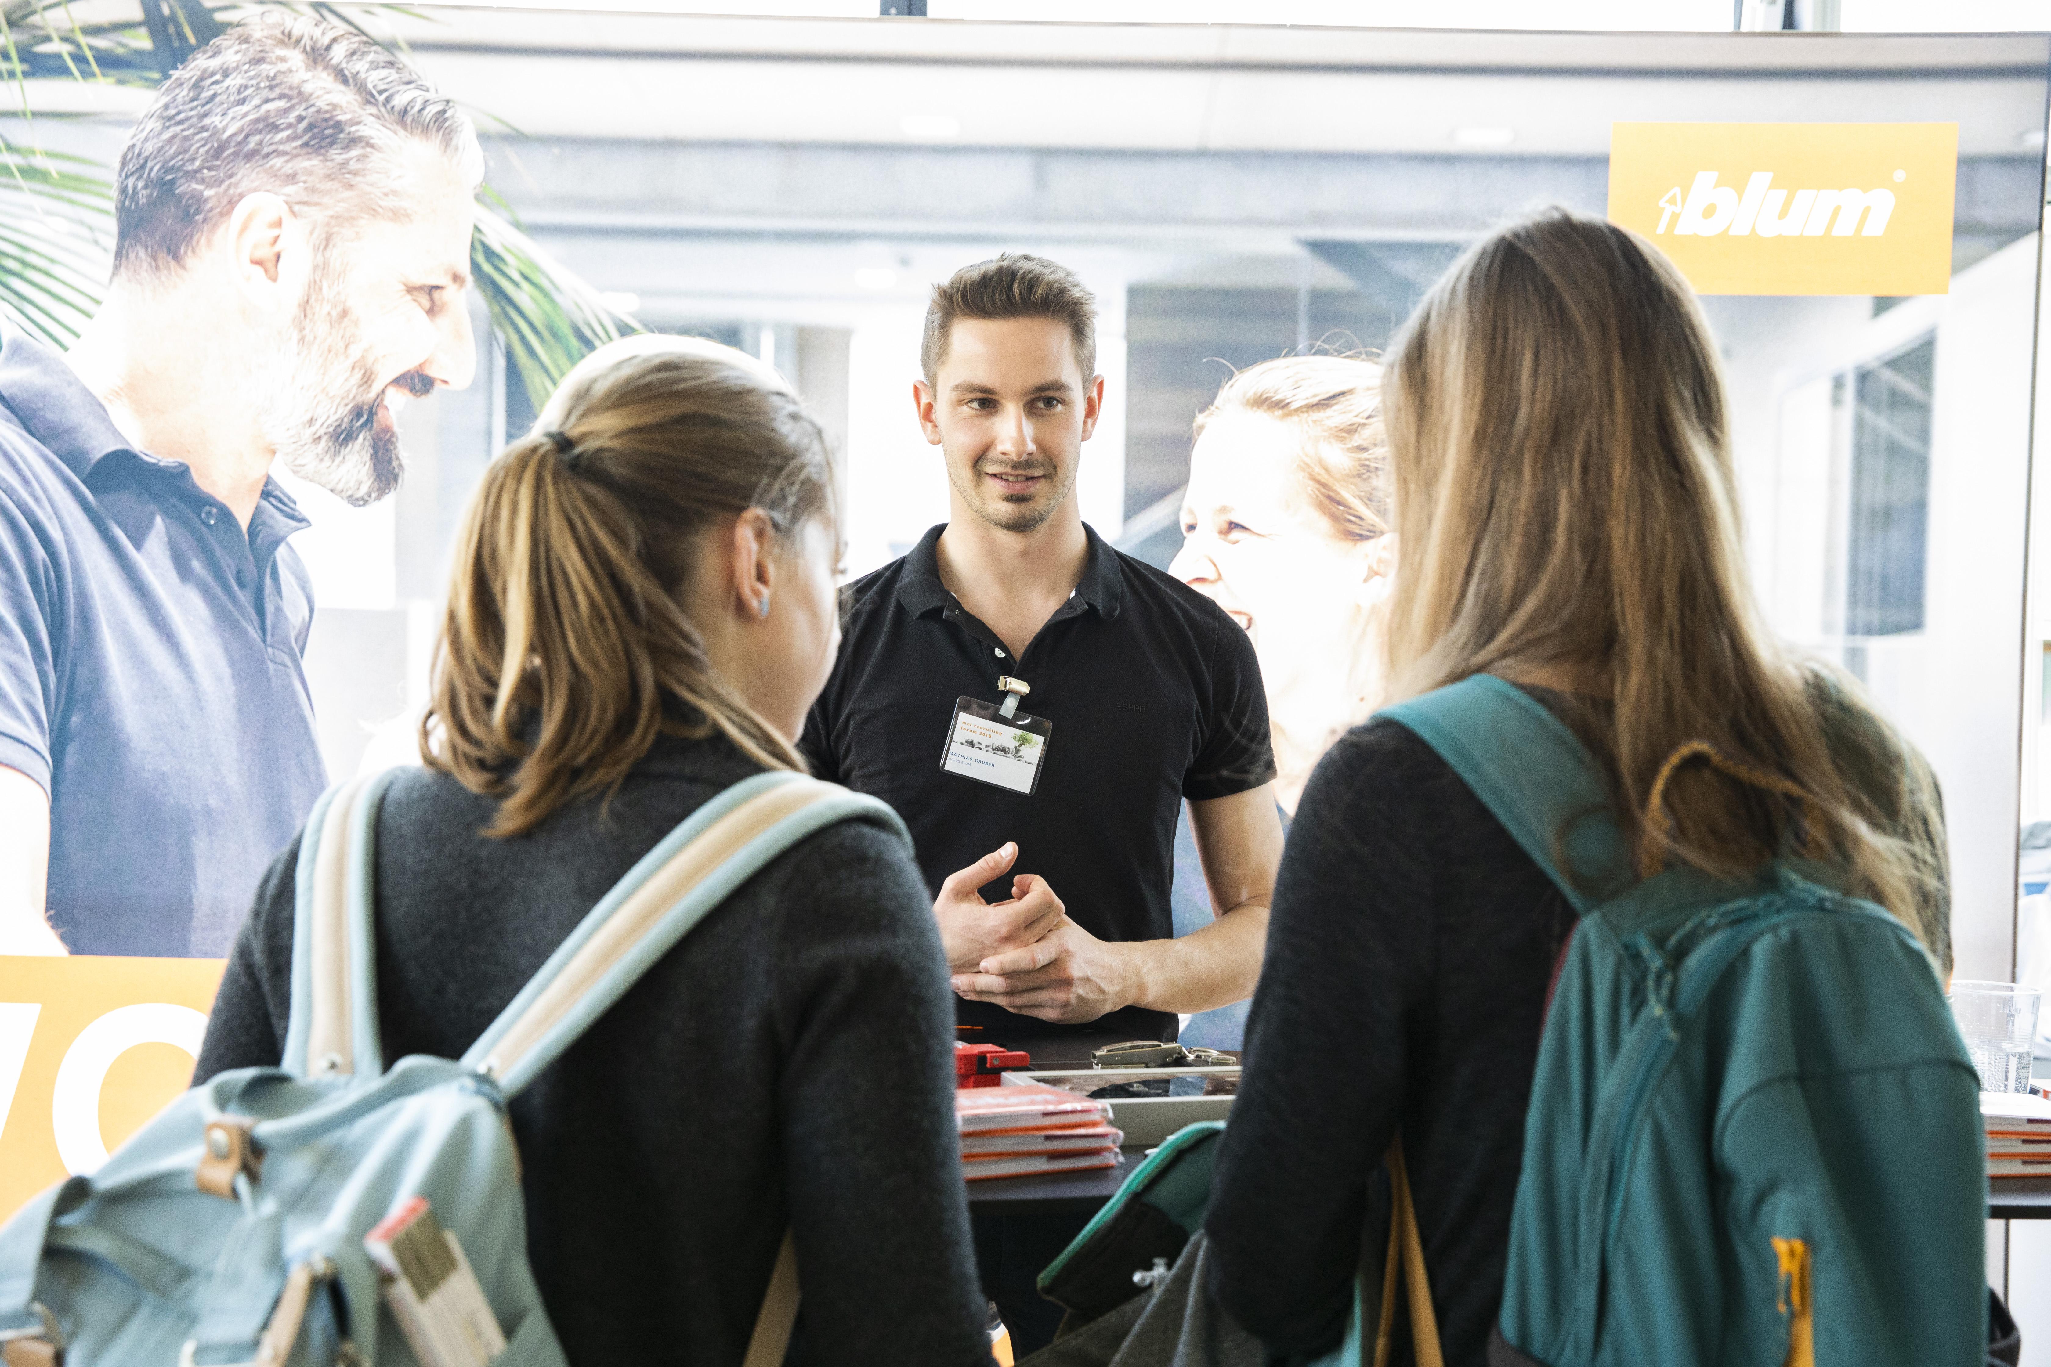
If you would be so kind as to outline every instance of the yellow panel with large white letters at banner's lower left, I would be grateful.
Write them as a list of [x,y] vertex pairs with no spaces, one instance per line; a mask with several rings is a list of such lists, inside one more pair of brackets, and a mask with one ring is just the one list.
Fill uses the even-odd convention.
[[0,1219],[191,1086],[226,965],[0,957]]

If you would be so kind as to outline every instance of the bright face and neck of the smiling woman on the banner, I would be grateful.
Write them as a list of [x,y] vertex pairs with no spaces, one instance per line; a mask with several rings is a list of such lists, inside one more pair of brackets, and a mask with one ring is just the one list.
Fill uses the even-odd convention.
[[1181,553],[1169,574],[1253,637],[1276,732],[1282,805],[1378,691],[1384,539],[1341,537],[1296,473],[1302,432],[1222,412],[1190,455]]

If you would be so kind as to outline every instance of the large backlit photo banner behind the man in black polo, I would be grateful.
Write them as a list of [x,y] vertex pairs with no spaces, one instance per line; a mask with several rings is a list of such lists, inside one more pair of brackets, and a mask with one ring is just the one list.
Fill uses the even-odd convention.
[[[948,519],[921,328],[937,281],[999,252],[1093,291],[1105,387],[1075,498],[1251,637],[1290,820],[1382,685],[1378,359],[1522,213],[1641,234],[1721,348],[1762,615],[1942,783],[1957,974],[2051,986],[2051,873],[2024,869],[2020,922],[2016,881],[2018,836],[2051,848],[2051,594],[2024,611],[2026,566],[2051,574],[2026,553],[2051,41],[345,6],[476,113],[480,178],[429,184],[410,217],[429,324],[310,309],[252,361],[242,426],[304,441],[275,494],[230,506],[18,396],[86,391],[123,148],[170,72],[265,8],[205,10],[203,41],[164,53],[142,8],[10,39],[39,117],[0,115],[21,170],[0,176],[0,402],[76,449],[33,498],[0,488],[0,840],[51,822],[43,906],[6,904],[0,871],[0,1217],[191,1082],[258,881],[324,785],[420,762],[449,547],[570,365],[650,330],[773,367],[833,447],[861,576]],[[72,76],[88,41],[119,80]],[[1317,385],[1345,402],[1313,420]],[[185,500],[185,541],[144,504],[59,525],[59,494],[115,506],[146,480]],[[59,650],[25,625],[55,613],[47,576],[8,547],[80,527],[129,539],[80,572],[119,617]],[[123,654],[121,631],[156,635]],[[1044,750],[1046,773],[1097,758]],[[1188,824],[1177,935],[1216,914]],[[1222,1049],[1243,1027],[1245,1002],[1179,1021]]]

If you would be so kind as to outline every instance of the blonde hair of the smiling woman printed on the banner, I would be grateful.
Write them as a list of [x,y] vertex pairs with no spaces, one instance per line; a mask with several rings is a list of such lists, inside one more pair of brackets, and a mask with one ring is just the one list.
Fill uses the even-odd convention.
[[1302,437],[1296,478],[1311,504],[1341,541],[1372,541],[1389,531],[1389,437],[1382,430],[1382,371],[1366,357],[1278,357],[1235,373],[1210,408],[1196,416],[1196,437],[1212,418],[1251,412],[1286,422]]

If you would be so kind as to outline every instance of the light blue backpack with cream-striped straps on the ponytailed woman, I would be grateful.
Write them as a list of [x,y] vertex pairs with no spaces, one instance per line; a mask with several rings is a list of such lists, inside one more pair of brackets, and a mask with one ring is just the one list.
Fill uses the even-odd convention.
[[[455,1062],[377,1041],[373,832],[392,775],[336,787],[299,844],[283,1068],[193,1088],[92,1176],[0,1228],[6,1367],[412,1367],[363,1236],[427,1197],[464,1246],[509,1347],[562,1365],[527,1269],[507,1101],[730,892],[794,842],[884,803],[794,773],[720,793],[628,871]],[[747,1367],[783,1361],[798,1314],[786,1236]]]

